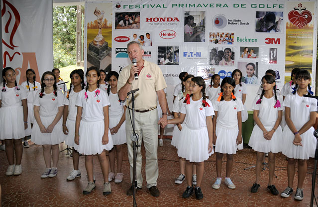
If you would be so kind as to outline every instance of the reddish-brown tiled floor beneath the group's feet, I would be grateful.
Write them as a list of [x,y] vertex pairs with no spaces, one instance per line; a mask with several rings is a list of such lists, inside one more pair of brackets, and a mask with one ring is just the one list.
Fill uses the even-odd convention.
[[[61,144],[60,149],[65,145]],[[142,148],[144,156],[144,148]],[[186,189],[186,183],[176,185],[174,179],[179,174],[179,163],[177,162],[177,150],[171,146],[169,140],[164,141],[163,147],[158,147],[159,179],[158,188],[160,197],[154,198],[145,187],[137,193],[137,205],[139,207],[149,206],[213,206],[213,207],[308,207],[311,198],[311,182],[314,160],[308,162],[308,174],[304,184],[305,198],[302,202],[295,201],[293,197],[281,198],[272,196],[267,192],[268,170],[261,173],[261,188],[258,193],[251,194],[250,187],[255,179],[255,170],[243,170],[255,163],[255,152],[251,149],[239,151],[234,156],[232,181],[236,185],[235,190],[228,189],[222,182],[219,190],[213,190],[212,184],[215,180],[215,155],[205,162],[204,182],[202,191],[204,199],[197,201],[195,196],[183,199],[182,193]],[[73,169],[72,158],[66,152],[60,154],[58,175],[55,178],[41,179],[40,175],[45,168],[42,147],[31,145],[24,149],[22,168],[20,176],[6,177],[5,171],[8,166],[5,152],[0,151],[0,184],[2,187],[2,206],[50,206],[50,207],[77,207],[77,206],[132,206],[132,197],[126,196],[129,184],[129,165],[127,151],[124,151],[123,173],[124,180],[120,184],[111,182],[112,193],[105,197],[103,191],[103,175],[97,157],[94,157],[94,171],[96,176],[96,189],[91,195],[84,196],[83,189],[87,185],[84,156],[80,158],[80,170],[82,177],[72,182],[67,182],[66,177]],[[143,161],[143,176],[144,173]],[[276,171],[278,176],[274,179],[279,192],[287,187],[287,161],[282,154],[276,159]],[[222,176],[225,176],[225,163],[222,166]],[[296,173],[297,175],[297,173]],[[144,179],[145,181],[145,179]],[[297,176],[294,181],[294,189],[297,184]],[[317,186],[317,184],[316,184]],[[316,196],[318,190],[316,188]]]

